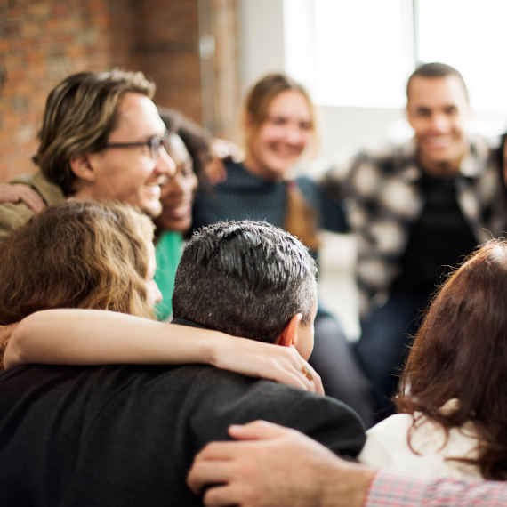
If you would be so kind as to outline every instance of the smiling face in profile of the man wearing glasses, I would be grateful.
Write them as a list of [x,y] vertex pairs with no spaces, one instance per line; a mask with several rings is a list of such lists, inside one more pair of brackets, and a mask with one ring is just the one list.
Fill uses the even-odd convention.
[[[163,136],[165,125],[155,104],[141,93],[125,93],[118,105],[116,128],[108,143],[144,142]],[[101,149],[86,155],[89,171],[81,177],[76,197],[115,199],[157,216],[160,185],[174,173],[165,149],[152,157],[148,146]]]

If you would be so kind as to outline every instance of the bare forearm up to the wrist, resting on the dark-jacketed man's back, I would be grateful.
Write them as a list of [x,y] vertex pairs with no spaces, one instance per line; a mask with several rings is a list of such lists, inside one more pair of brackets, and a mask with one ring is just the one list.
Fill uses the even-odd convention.
[[112,311],[44,310],[16,327],[4,364],[213,363],[220,335]]

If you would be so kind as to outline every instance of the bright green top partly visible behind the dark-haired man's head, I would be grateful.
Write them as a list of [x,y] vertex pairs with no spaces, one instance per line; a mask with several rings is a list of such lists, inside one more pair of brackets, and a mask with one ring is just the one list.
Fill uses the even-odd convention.
[[179,232],[166,230],[158,238],[155,256],[157,271],[155,281],[162,293],[162,301],[155,306],[157,320],[167,320],[173,314],[173,290],[176,268],[180,262],[183,238]]

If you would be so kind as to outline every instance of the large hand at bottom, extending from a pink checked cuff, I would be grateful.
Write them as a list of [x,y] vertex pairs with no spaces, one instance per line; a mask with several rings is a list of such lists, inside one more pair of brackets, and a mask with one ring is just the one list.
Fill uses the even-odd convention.
[[[271,422],[230,426],[241,442],[213,442],[195,458],[187,484],[205,505],[361,507],[374,471]],[[206,489],[207,487],[207,489]]]

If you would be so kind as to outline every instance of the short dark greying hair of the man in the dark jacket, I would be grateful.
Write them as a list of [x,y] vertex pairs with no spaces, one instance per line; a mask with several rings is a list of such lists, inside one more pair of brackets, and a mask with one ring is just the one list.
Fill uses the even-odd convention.
[[316,273],[307,248],[285,230],[259,221],[215,223],[183,250],[173,316],[272,343],[296,313],[311,324]]

